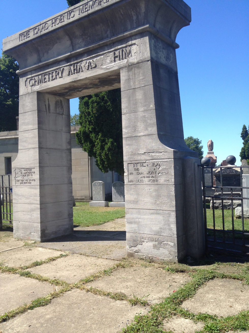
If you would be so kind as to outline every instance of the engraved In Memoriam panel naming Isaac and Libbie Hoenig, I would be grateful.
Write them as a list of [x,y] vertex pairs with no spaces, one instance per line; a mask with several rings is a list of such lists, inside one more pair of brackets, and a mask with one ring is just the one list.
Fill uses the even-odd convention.
[[144,161],[128,163],[128,183],[169,183],[169,161]]

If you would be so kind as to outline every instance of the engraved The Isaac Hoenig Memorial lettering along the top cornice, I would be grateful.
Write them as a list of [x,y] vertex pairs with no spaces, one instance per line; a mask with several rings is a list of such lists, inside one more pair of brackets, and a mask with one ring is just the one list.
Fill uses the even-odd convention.
[[104,4],[111,3],[113,0],[90,0],[83,1],[74,9],[69,9],[65,13],[53,17],[46,22],[39,24],[32,29],[26,30],[19,34],[19,42],[29,40],[34,36],[40,36],[51,29],[58,28],[64,23],[70,23],[72,19],[79,18],[91,13],[93,10],[102,9]]

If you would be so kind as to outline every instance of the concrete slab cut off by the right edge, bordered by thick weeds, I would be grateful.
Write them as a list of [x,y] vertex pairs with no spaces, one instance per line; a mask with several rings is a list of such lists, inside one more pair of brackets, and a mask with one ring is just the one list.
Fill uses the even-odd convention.
[[195,296],[183,302],[182,307],[195,314],[201,312],[218,317],[233,316],[249,310],[249,285],[238,280],[213,279],[200,288]]

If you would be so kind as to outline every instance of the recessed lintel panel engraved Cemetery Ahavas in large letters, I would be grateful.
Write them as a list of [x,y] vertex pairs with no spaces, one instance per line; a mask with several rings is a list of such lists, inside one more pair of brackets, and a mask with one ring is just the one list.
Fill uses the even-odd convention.
[[70,65],[59,67],[49,72],[45,72],[39,75],[29,77],[25,81],[26,87],[40,86],[41,84],[48,83],[50,81],[58,80],[67,76],[72,76],[82,72],[94,70],[99,67],[106,67],[117,62],[125,61],[129,58],[135,57],[136,44],[114,49],[112,52],[105,53],[104,55],[89,58],[83,61],[77,61]]

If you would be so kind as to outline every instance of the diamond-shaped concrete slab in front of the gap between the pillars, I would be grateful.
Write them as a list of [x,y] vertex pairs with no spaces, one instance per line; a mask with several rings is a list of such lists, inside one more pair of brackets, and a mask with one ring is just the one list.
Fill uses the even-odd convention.
[[100,270],[112,267],[116,263],[118,261],[70,254],[67,257],[28,270],[31,273],[40,274],[51,279],[57,278],[68,283],[74,283]]

